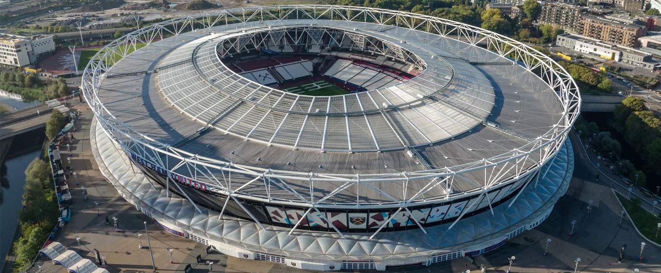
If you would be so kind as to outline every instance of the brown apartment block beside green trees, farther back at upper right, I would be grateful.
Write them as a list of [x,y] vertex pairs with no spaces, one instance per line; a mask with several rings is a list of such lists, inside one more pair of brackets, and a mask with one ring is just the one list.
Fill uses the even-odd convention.
[[581,18],[588,7],[580,7],[559,2],[543,2],[539,15],[540,24],[551,24],[569,32],[582,32]]

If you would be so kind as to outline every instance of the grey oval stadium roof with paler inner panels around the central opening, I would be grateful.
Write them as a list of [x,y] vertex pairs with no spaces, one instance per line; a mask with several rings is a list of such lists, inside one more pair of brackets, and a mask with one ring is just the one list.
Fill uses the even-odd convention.
[[[267,26],[278,28],[285,23],[405,39],[401,46],[424,56],[428,69],[393,87],[313,98],[268,89],[233,75],[215,58],[215,43],[206,43],[223,34],[268,31]],[[100,100],[135,130],[190,153],[265,169],[356,175],[424,171],[495,157],[543,135],[562,116],[553,91],[524,67],[493,52],[426,32],[330,20],[247,22],[214,26],[210,32],[182,33],[130,54],[109,71],[115,77],[103,80]],[[192,54],[199,57],[190,61]],[[443,60],[432,59],[432,55]],[[127,75],[157,68],[158,73]],[[196,76],[196,71],[206,80]],[[217,84],[211,84],[212,78]],[[442,89],[444,86],[447,88]],[[442,91],[435,93],[436,89]],[[418,93],[424,93],[422,98]],[[310,113],[317,108],[321,113]],[[208,123],[218,130],[198,134]],[[306,124],[302,130],[301,124]],[[301,140],[295,141],[297,138]],[[429,166],[410,157],[410,149]],[[322,150],[330,152],[319,153]],[[381,153],[338,152],[377,150]],[[534,159],[525,160],[529,166],[535,164]],[[467,174],[471,175],[475,176],[471,179],[484,180],[477,173]],[[338,185],[315,186],[332,190]],[[395,194],[385,187],[382,190]],[[452,185],[453,191],[475,188],[461,180]],[[323,196],[324,191],[315,194]],[[442,194],[435,188],[425,196]],[[367,194],[365,198],[378,201],[383,196]]]

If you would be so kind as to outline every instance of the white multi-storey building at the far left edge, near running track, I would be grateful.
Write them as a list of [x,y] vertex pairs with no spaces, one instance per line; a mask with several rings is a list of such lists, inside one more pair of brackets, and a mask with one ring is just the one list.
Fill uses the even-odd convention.
[[32,37],[0,33],[0,63],[24,67],[55,51],[53,36]]

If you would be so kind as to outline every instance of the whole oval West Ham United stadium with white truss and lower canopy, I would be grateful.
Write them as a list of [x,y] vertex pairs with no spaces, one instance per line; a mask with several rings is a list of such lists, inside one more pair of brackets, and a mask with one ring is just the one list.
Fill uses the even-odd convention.
[[541,223],[580,112],[549,56],[469,24],[282,5],[140,28],[81,86],[106,180],[180,237],[307,270],[430,265]]

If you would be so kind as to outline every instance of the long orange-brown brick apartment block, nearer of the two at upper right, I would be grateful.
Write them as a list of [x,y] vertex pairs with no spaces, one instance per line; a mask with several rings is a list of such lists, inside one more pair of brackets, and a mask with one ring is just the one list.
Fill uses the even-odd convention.
[[584,16],[582,22],[583,36],[629,48],[636,47],[637,39],[646,35],[647,32],[646,26],[617,22],[592,15]]

